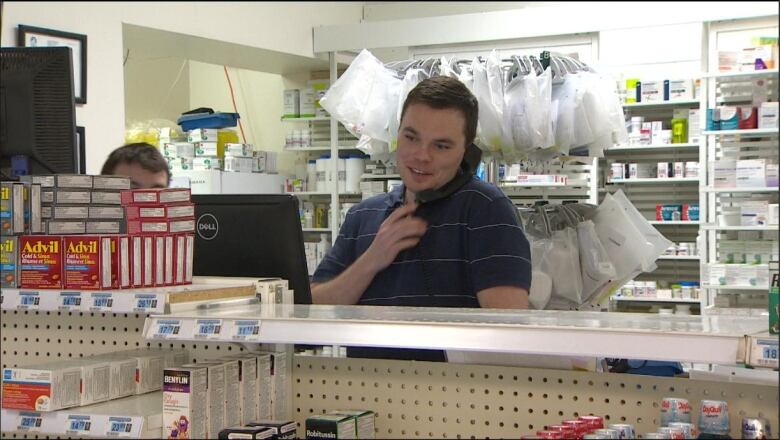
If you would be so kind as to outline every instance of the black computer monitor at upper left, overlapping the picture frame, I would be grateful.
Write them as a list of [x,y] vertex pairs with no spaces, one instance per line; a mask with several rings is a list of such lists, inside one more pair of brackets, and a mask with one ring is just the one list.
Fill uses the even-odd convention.
[[[29,174],[80,173],[68,47],[0,48],[0,170],[28,157]],[[10,175],[7,177],[11,177]]]

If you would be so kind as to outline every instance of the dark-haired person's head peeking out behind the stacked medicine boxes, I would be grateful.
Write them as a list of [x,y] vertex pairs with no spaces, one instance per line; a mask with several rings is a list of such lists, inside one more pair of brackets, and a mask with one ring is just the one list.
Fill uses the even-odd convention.
[[144,142],[111,152],[100,174],[128,176],[133,188],[167,188],[171,183],[168,162],[157,147]]

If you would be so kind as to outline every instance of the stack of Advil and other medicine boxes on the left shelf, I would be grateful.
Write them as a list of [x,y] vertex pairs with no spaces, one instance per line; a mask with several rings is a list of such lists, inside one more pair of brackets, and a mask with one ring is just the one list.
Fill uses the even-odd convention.
[[2,287],[101,290],[192,282],[189,189],[130,190],[130,180],[119,176],[24,179],[2,183]]

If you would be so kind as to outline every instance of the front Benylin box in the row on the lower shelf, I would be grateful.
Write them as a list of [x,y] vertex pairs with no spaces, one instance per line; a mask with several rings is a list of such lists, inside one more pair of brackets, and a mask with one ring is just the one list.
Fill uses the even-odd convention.
[[208,370],[200,366],[166,368],[163,373],[163,436],[208,438]]

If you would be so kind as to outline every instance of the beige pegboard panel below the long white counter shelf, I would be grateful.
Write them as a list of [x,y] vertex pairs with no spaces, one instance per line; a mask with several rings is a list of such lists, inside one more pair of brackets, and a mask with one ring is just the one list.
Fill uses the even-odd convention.
[[[323,412],[377,412],[377,438],[518,438],[584,414],[659,426],[664,397],[725,400],[732,438],[743,415],[778,426],[778,388],[626,374],[378,359],[296,356],[296,422]],[[694,422],[698,414],[693,415]]]

